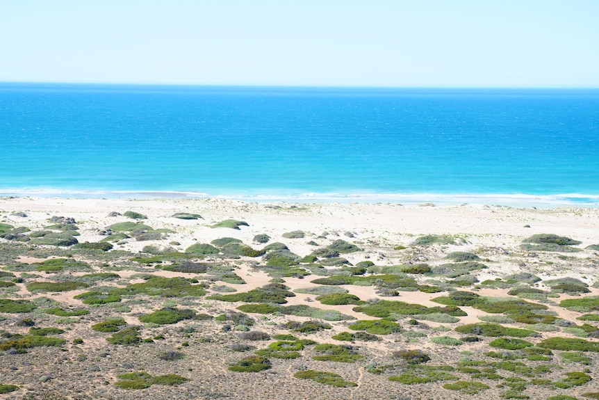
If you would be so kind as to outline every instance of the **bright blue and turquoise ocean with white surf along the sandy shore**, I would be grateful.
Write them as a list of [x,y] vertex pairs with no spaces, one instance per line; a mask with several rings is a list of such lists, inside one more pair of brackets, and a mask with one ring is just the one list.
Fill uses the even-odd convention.
[[0,83],[0,157],[0,193],[597,202],[599,90]]

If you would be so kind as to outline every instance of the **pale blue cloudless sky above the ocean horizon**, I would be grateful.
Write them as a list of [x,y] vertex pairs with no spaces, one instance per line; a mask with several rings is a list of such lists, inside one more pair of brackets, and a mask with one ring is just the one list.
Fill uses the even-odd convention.
[[0,81],[599,88],[599,0],[0,0]]

